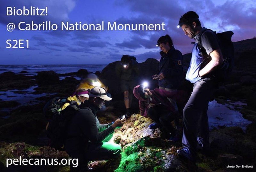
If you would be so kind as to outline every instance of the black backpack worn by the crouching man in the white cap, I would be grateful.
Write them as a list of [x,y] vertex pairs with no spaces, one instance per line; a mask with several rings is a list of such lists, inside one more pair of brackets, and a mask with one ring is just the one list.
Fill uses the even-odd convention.
[[55,113],[52,121],[47,129],[47,137],[49,138],[49,146],[56,150],[65,150],[64,143],[67,136],[68,126],[73,115],[79,109],[77,104],[69,105],[60,113]]

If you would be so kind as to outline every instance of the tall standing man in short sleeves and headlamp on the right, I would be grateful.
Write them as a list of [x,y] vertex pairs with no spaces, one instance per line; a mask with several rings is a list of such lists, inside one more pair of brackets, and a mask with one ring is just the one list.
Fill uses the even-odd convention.
[[[205,31],[206,28],[202,28],[196,12],[188,11],[181,16],[178,27],[181,27],[189,38],[195,39],[195,45],[186,75],[186,79],[194,83],[194,87],[188,103],[183,109],[182,145],[184,148],[177,150],[177,153],[189,160],[196,161],[197,142],[203,148],[204,153],[209,153],[207,110],[216,83],[211,72],[222,64],[223,57],[216,35],[214,32]],[[204,57],[198,46],[199,39],[206,53],[212,58],[205,66],[202,64]]]

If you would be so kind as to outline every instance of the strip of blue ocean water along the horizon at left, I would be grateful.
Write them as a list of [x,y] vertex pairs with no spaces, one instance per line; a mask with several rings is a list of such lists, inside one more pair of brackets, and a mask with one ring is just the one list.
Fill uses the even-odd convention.
[[79,69],[86,69],[88,72],[95,73],[102,71],[107,65],[0,65],[0,74],[4,72],[14,72],[16,74],[21,71],[27,71],[24,75],[37,75],[37,72],[53,70],[58,74],[77,72]]

